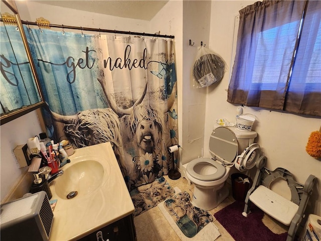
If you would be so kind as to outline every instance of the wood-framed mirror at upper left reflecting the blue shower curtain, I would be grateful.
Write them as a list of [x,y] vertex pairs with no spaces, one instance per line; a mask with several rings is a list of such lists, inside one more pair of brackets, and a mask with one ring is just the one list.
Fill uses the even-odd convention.
[[1,0],[1,125],[44,105],[42,90],[14,1]]

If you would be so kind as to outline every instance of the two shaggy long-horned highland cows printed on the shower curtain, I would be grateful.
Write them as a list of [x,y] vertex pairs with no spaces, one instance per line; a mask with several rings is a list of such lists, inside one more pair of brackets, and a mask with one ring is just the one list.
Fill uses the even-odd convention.
[[[77,148],[110,142],[129,189],[167,174],[170,161],[167,147],[171,143],[170,138],[163,138],[163,134],[170,133],[169,109],[161,111],[142,103],[147,83],[141,97],[131,107],[121,108],[105,88],[105,82],[98,81],[110,108],[88,109],[69,116],[51,111],[53,119],[64,124],[61,135]],[[176,84],[172,92],[176,93]],[[172,96],[168,99],[168,106],[174,103],[175,94]]]

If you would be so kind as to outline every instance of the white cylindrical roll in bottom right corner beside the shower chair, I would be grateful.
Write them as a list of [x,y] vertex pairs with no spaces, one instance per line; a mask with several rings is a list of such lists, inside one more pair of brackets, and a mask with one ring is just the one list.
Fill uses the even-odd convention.
[[321,217],[310,214],[307,218],[304,237],[301,240],[321,240]]

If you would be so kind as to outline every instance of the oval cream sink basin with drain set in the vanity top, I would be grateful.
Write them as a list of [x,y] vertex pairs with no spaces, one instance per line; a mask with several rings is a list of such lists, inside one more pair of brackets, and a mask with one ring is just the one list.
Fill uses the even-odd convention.
[[107,179],[106,168],[96,160],[81,160],[70,164],[65,165],[64,174],[55,180],[55,192],[62,199],[77,199],[90,194]]

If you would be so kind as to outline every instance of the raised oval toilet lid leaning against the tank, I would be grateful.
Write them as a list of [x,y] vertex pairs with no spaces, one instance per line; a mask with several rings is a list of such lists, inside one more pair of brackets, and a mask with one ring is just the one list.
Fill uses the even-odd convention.
[[234,164],[238,154],[235,134],[226,127],[216,128],[210,137],[209,149],[212,157],[225,164]]

